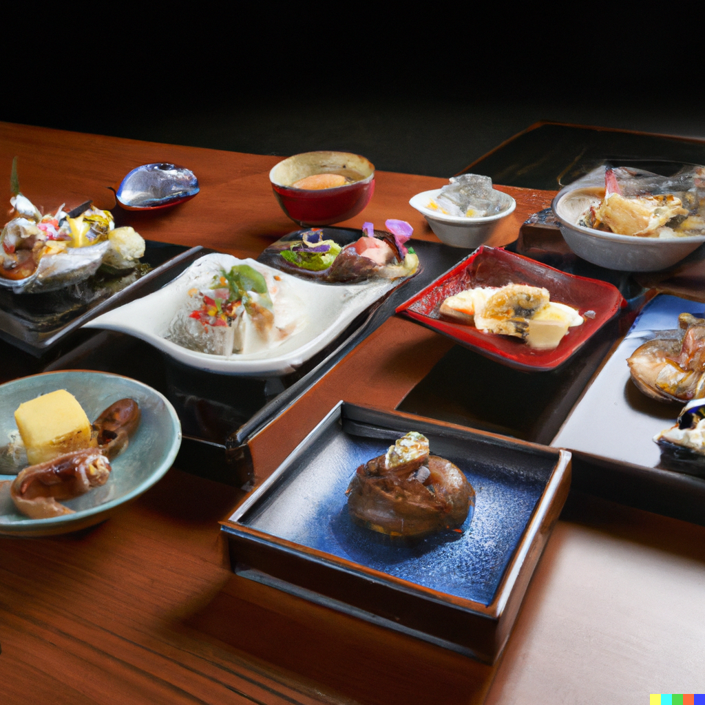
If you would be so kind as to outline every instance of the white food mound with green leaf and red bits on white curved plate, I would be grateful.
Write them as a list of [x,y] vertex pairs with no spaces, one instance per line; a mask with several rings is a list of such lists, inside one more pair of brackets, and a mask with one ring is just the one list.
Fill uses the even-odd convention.
[[223,268],[201,260],[187,271],[188,291],[166,339],[209,355],[249,355],[281,345],[306,324],[302,300],[269,268]]

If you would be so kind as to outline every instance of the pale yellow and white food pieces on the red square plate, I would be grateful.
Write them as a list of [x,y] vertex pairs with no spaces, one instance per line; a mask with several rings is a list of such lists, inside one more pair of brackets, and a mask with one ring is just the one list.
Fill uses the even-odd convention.
[[483,333],[521,338],[537,350],[553,350],[583,322],[574,308],[551,301],[547,289],[526,284],[461,291],[443,300],[439,314]]

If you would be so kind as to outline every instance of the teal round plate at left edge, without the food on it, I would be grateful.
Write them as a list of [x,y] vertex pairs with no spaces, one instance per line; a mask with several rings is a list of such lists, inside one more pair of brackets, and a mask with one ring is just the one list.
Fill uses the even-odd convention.
[[[132,398],[142,419],[128,447],[111,461],[108,482],[75,499],[62,501],[74,514],[49,519],[29,519],[15,508],[9,484],[0,484],[0,534],[48,536],[92,526],[108,518],[119,505],[140,496],[155,484],[176,458],[181,445],[181,424],[172,405],[158,391],[142,382],[105,372],[47,372],[16,379],[0,386],[0,446],[17,431],[14,413],[24,401],[66,389],[78,400],[90,421],[118,399]],[[21,470],[21,468],[19,468]],[[7,472],[5,464],[0,472]],[[0,481],[14,479],[0,474]]]

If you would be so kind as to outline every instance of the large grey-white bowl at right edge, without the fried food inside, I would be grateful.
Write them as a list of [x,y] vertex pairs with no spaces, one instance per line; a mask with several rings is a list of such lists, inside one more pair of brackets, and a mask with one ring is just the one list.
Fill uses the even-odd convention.
[[551,204],[563,239],[578,257],[587,259],[587,262],[621,271],[661,271],[680,262],[705,243],[705,235],[639,238],[577,225],[591,200],[601,200],[604,195],[604,187],[586,185],[588,183],[586,177],[566,186]]

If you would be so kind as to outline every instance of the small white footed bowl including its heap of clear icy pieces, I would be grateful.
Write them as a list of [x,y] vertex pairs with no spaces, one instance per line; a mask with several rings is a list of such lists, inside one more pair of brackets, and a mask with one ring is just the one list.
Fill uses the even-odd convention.
[[489,176],[477,174],[453,177],[448,186],[417,193],[409,204],[441,243],[470,250],[486,243],[517,207],[510,195],[492,188]]

